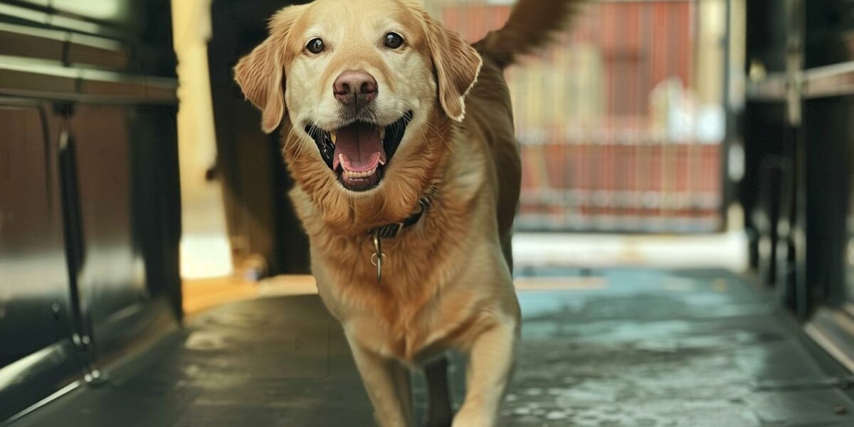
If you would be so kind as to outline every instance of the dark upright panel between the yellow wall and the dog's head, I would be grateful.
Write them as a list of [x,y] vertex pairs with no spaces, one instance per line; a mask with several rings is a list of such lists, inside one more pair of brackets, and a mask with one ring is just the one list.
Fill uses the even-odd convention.
[[260,112],[234,83],[232,68],[266,37],[266,22],[293,3],[284,0],[216,0],[208,44],[218,172],[236,259],[260,254],[269,274],[307,273],[308,240],[287,192],[293,183],[284,166],[278,132],[260,131]]

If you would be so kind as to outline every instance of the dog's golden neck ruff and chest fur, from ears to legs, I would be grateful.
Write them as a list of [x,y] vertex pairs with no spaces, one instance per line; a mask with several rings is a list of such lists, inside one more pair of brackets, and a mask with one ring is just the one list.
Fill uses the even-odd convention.
[[[313,272],[325,304],[360,344],[378,354],[417,363],[491,323],[487,291],[506,271],[495,240],[494,195],[477,144],[456,145],[442,173],[436,202],[401,236],[383,239],[383,281],[367,233],[328,226],[300,188],[292,191],[311,239]],[[459,161],[464,159],[465,161]],[[490,301],[491,300],[491,301]]]

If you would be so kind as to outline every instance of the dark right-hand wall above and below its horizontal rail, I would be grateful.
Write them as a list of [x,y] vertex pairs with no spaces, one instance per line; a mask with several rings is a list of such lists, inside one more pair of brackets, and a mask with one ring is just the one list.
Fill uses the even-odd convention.
[[[797,6],[791,8],[795,15],[787,15],[787,4]],[[834,65],[854,59],[854,1],[748,2],[747,7],[748,60],[762,61],[777,77],[785,75],[793,54],[803,57],[802,67],[793,71],[808,77],[817,67],[839,73]],[[854,300],[854,286],[847,284],[847,277],[854,277],[849,259],[854,97],[844,85],[836,90],[792,104],[782,94],[775,101],[752,100],[742,118],[746,177],[740,201],[754,261],[763,281],[801,319],[820,307]],[[789,108],[801,114],[790,117]]]

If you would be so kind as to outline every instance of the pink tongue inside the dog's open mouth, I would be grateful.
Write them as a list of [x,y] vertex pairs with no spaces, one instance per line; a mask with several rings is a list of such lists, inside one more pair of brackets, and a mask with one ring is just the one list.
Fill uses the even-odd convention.
[[377,127],[354,123],[338,129],[333,169],[338,170],[342,155],[347,170],[351,172],[368,172],[376,168],[380,161],[385,162],[385,149]]

